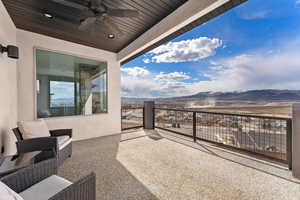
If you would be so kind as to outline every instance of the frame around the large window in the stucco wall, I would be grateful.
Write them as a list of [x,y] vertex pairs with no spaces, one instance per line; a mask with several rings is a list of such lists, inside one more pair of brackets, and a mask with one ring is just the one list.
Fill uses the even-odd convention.
[[[106,63],[106,111],[104,112],[100,112],[100,113],[93,113],[93,114],[88,114],[88,115],[84,115],[84,114],[80,114],[80,115],[71,115],[71,116],[55,116],[55,117],[48,117],[48,118],[39,118],[37,111],[37,51],[38,50],[42,50],[42,51],[49,51],[49,52],[53,52],[53,53],[58,53],[58,54],[62,54],[62,55],[66,55],[66,56],[74,56],[74,57],[79,57],[79,58],[85,58],[85,59],[90,59],[90,60],[95,60],[98,62],[105,62]],[[84,56],[84,55],[80,55],[80,54],[74,54],[71,52],[67,52],[67,51],[59,51],[59,50],[53,50],[53,49],[47,49],[47,48],[43,48],[43,47],[39,47],[39,46],[34,46],[33,47],[33,63],[34,63],[34,69],[33,69],[33,86],[34,86],[34,119],[55,119],[55,118],[74,118],[74,117],[89,117],[89,116],[94,116],[94,115],[103,115],[103,114],[108,114],[109,113],[109,101],[108,101],[108,96],[109,96],[109,62],[107,60],[102,60],[99,58],[95,58],[95,57],[89,57],[89,56]],[[50,82],[49,82],[50,84]]]

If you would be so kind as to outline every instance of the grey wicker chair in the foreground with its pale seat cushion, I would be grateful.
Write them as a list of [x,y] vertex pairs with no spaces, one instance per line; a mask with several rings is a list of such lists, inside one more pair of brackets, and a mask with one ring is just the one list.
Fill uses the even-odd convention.
[[56,176],[56,174],[57,161],[50,159],[2,177],[0,181],[18,193],[24,200],[96,199],[96,175],[94,172],[74,183]]

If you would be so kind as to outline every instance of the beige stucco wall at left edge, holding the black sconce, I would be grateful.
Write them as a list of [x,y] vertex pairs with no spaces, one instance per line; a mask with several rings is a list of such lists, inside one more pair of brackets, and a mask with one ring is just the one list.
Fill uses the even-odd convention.
[[[0,1],[0,44],[16,45],[16,28]],[[17,120],[17,65],[16,60],[0,54],[0,149],[15,153],[15,138],[10,128]],[[12,145],[13,144],[13,145]],[[1,151],[0,151],[1,155]]]

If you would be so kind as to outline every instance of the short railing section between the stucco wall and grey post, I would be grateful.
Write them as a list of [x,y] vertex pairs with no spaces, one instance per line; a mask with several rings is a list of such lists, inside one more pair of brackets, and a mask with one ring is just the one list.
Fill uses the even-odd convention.
[[144,127],[143,107],[122,107],[121,115],[122,130]]

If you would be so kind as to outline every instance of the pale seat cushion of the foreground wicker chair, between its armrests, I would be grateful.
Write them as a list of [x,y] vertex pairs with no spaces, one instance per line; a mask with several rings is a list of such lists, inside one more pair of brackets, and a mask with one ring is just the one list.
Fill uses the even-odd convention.
[[58,192],[72,185],[64,178],[52,175],[20,193],[24,200],[48,200]]

